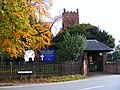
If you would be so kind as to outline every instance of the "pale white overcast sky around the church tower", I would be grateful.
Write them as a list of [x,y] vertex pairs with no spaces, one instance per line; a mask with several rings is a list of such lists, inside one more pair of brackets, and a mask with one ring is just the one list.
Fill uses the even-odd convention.
[[[90,23],[108,32],[115,38],[115,44],[120,40],[120,0],[52,0],[51,16],[59,16],[63,9],[76,11],[79,9],[79,22]],[[57,24],[58,25],[58,24]],[[58,25],[62,27],[61,24]],[[59,30],[58,28],[58,30]],[[53,31],[54,34],[58,32]]]

